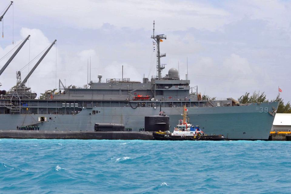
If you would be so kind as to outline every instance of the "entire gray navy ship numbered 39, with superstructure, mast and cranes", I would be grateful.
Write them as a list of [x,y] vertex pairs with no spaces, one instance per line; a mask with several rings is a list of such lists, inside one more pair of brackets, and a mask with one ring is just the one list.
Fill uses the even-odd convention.
[[[155,26],[154,26],[155,27]],[[0,76],[21,49],[0,70]],[[17,84],[9,91],[0,91],[0,130],[16,130],[18,127],[39,131],[94,131],[94,124],[119,123],[132,131],[144,127],[145,116],[165,112],[170,118],[170,129],[176,126],[186,105],[193,125],[199,125],[207,134],[222,134],[226,139],[267,140],[279,102],[239,104],[235,99],[203,100],[197,87],[190,80],[182,80],[179,71],[171,68],[162,76],[160,45],[166,35],[151,36],[156,45],[157,75],[142,78],[142,82],[130,78],[110,78],[79,86],[65,86],[59,80],[59,92],[45,92],[44,99],[26,87],[26,81],[40,64],[55,41],[42,55],[25,79],[17,72]],[[5,79],[4,77],[0,77]],[[193,92],[194,90],[194,92]]]

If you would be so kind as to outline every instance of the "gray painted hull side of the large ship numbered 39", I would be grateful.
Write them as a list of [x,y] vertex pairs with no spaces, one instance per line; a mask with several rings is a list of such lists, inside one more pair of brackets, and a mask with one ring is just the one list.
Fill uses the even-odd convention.
[[[199,125],[209,135],[224,135],[225,139],[267,140],[278,102],[252,103],[246,106],[188,107],[192,125]],[[98,114],[91,114],[92,111]],[[0,114],[0,130],[15,130],[17,126],[38,125],[40,131],[94,131],[96,122],[120,123],[139,131],[144,117],[158,115],[159,107],[93,107],[75,115],[65,114]],[[170,131],[181,119],[182,107],[165,107],[170,117]],[[38,122],[46,117],[46,122]]]

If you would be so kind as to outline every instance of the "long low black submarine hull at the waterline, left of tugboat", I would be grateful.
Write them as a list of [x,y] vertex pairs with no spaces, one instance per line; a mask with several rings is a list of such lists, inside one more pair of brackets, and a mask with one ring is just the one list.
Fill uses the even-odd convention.
[[18,131],[0,130],[0,138],[10,139],[121,139],[152,140],[152,132]]

